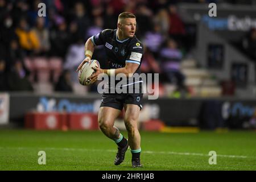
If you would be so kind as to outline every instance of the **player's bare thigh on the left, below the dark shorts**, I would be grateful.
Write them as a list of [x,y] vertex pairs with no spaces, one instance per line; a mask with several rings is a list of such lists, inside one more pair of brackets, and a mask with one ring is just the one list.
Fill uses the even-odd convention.
[[115,119],[120,114],[121,110],[113,107],[100,107],[98,111],[98,123],[100,125],[114,125]]

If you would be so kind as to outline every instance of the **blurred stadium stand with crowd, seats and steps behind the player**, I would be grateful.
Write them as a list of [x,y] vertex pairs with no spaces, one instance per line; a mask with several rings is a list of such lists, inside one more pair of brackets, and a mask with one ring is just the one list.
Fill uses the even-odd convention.
[[[40,2],[46,3],[46,17],[38,18]],[[209,1],[1,0],[1,91],[10,94],[12,103],[16,102],[17,93],[28,92],[26,96],[36,100],[34,105],[46,95],[59,99],[59,95],[68,94],[64,97],[71,99],[68,101],[73,101],[73,97],[84,98],[84,102],[91,101],[90,98],[93,101],[100,99],[96,84],[82,86],[77,80],[75,71],[84,58],[85,40],[105,28],[116,28],[113,22],[118,14],[131,11],[137,15],[136,35],[144,44],[141,70],[143,73],[159,73],[159,84],[154,86],[158,88],[160,101],[156,103],[161,109],[156,109],[158,106],[155,105],[152,106],[154,110],[146,106],[141,121],[156,122],[159,117],[148,115],[160,110],[160,122],[167,125],[177,125],[176,121],[183,125],[186,121],[184,125],[198,126],[195,122],[200,110],[198,103],[204,99],[219,99],[222,103],[230,97],[250,100],[256,96],[255,1],[214,2],[218,6],[216,18],[208,15]],[[238,8],[241,3],[243,9]],[[231,27],[230,22],[233,22]],[[105,57],[103,47],[97,47],[93,59],[100,61],[102,68],[107,67]],[[151,86],[147,85],[147,88]],[[95,94],[97,97],[94,98]],[[175,112],[173,118],[167,117],[163,112],[176,109],[167,104],[170,101],[176,103],[173,99],[180,101],[178,105],[191,102],[193,104],[188,105],[196,109],[193,112],[185,109],[188,117],[182,118],[180,106],[181,110],[176,112],[179,117]],[[73,102],[77,104],[78,100]],[[235,101],[229,103],[230,107],[238,107]],[[76,104],[76,109],[84,111],[84,107],[81,109]],[[165,110],[168,108],[163,108],[164,105],[168,105],[169,110]],[[243,105],[239,106],[244,109]],[[24,108],[30,107],[35,109],[35,106]],[[17,110],[23,117],[27,112]],[[16,111],[10,113],[11,120],[20,120],[22,114],[18,117],[14,113]],[[158,126],[162,124],[158,123]]]

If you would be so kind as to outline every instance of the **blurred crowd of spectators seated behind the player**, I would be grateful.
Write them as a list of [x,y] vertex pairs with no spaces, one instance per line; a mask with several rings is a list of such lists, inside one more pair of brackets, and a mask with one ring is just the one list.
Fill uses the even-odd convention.
[[[46,4],[45,17],[38,16],[41,2]],[[183,89],[180,61],[195,39],[177,13],[178,2],[219,1],[0,0],[0,91],[33,90],[35,80],[28,79],[31,70],[24,62],[26,57],[59,57],[63,72],[52,84],[56,91],[72,92],[85,41],[105,28],[115,29],[123,11],[137,16],[136,35],[144,44],[142,72],[160,73],[161,82],[173,82]],[[106,68],[102,49],[96,48],[93,59]]]

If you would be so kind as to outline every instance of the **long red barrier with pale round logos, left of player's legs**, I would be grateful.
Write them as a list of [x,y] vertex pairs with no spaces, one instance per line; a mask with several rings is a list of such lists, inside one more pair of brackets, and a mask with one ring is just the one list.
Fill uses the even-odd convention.
[[98,130],[98,115],[93,113],[30,112],[25,127],[35,130]]

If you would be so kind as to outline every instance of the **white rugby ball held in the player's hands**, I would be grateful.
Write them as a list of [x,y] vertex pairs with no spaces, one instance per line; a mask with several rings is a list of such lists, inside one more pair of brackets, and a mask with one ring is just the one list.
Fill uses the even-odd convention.
[[90,79],[88,79],[89,76],[93,75],[95,73],[95,70],[93,67],[100,68],[100,63],[98,63],[97,60],[90,60],[84,65],[82,65],[82,68],[79,70],[79,82],[81,85],[90,85]]

